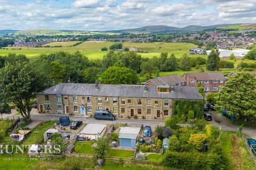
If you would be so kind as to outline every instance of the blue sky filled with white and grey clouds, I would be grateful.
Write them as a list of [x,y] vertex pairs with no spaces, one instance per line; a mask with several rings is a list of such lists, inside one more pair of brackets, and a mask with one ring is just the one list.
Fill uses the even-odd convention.
[[118,30],[256,22],[256,0],[0,0],[0,29]]

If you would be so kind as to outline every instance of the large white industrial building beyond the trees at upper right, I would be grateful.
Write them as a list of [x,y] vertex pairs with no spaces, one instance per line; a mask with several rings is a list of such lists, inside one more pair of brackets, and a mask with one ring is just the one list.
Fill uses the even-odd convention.
[[[237,59],[242,59],[245,54],[250,52],[249,49],[235,49],[235,50],[227,50],[227,49],[219,49],[220,52],[220,58],[228,59],[228,57],[233,53]],[[211,50],[207,50],[206,54],[209,55],[211,53]]]

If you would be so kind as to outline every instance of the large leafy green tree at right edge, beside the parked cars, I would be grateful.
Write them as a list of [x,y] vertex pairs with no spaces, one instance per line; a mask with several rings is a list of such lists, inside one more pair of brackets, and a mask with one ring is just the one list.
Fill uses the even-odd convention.
[[256,80],[253,74],[237,73],[223,86],[217,97],[216,108],[226,109],[231,115],[256,118]]

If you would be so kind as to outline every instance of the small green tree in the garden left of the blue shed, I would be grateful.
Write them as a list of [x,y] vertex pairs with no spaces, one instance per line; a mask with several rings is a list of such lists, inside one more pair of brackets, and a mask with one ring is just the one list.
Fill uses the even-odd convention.
[[93,156],[95,161],[97,161],[98,159],[102,159],[103,161],[106,160],[111,148],[108,140],[109,140],[108,138],[104,137],[104,138],[98,138],[98,140],[96,141],[97,146],[93,149],[94,151]]

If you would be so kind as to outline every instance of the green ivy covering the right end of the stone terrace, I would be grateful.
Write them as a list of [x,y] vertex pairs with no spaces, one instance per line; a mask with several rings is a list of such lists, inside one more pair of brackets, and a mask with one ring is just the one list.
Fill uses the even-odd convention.
[[195,116],[202,118],[204,115],[203,100],[174,100],[173,114],[185,115],[188,111],[194,111]]

